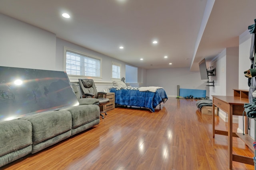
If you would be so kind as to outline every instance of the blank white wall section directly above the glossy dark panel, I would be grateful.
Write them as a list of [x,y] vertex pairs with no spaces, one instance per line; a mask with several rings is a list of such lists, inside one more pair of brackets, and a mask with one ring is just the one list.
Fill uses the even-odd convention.
[[56,35],[0,14],[1,66],[56,70]]

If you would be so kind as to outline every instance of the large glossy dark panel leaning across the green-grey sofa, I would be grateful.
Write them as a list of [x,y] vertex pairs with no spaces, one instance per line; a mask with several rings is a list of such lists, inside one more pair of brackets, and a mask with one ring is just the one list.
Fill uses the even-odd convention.
[[66,72],[0,66],[0,121],[77,105]]

